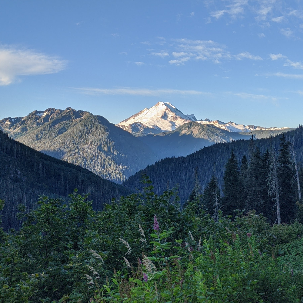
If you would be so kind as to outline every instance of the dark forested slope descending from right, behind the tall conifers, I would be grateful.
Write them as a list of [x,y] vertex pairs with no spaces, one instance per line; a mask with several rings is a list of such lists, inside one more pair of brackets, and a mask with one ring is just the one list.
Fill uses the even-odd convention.
[[[254,146],[260,152],[260,161],[262,159],[262,161],[265,161],[261,164],[262,167],[265,167],[266,159],[264,157],[266,157],[266,151],[271,148],[271,142],[272,146],[278,151],[282,136],[277,135],[272,140],[270,138],[254,140]],[[294,131],[285,133],[285,140],[293,142],[297,161],[298,163],[303,162],[303,128],[299,127]],[[237,167],[240,171],[243,156],[246,155],[248,161],[250,161],[250,145],[251,140],[217,143],[186,157],[167,158],[154,165],[148,165],[147,168],[139,171],[123,184],[132,189],[140,188],[139,181],[142,175],[146,174],[153,181],[157,193],[165,190],[167,184],[170,186],[178,184],[181,202],[184,203],[195,187],[195,183],[197,183],[195,181],[195,170],[197,171],[196,175],[201,193],[207,187],[212,175],[218,180],[219,188],[222,191],[225,165],[231,156],[231,152],[234,151]]]

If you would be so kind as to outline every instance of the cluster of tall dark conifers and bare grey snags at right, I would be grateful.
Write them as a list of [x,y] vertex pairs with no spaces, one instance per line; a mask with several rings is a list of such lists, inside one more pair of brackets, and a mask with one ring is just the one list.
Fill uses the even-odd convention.
[[234,216],[236,210],[253,209],[272,224],[289,223],[300,217],[303,171],[298,167],[293,143],[286,140],[284,134],[279,140],[278,150],[271,143],[269,149],[261,153],[252,135],[248,155],[241,161],[232,150],[225,165],[222,190],[212,175],[201,194],[196,171],[195,186],[188,201],[200,199],[201,205],[215,217],[219,210]]

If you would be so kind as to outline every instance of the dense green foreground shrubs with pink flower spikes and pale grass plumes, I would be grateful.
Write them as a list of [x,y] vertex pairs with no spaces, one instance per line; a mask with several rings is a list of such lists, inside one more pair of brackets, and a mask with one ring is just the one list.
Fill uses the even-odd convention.
[[20,206],[22,228],[1,232],[1,303],[302,302],[303,225],[240,210],[215,222],[200,198],[180,210],[146,179],[103,211],[77,192]]

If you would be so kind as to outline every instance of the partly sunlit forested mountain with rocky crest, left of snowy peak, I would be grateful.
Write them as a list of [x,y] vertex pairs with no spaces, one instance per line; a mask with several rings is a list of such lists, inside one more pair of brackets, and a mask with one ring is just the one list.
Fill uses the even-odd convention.
[[159,160],[138,138],[89,112],[48,108],[0,122],[11,138],[117,183]]

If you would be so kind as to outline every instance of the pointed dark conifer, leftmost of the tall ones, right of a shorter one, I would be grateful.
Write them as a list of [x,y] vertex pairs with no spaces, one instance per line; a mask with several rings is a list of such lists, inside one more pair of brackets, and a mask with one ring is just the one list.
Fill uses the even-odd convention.
[[231,215],[235,209],[243,208],[240,192],[240,172],[238,169],[238,161],[233,150],[231,151],[231,156],[225,165],[223,180],[223,207],[225,209],[225,213]]

